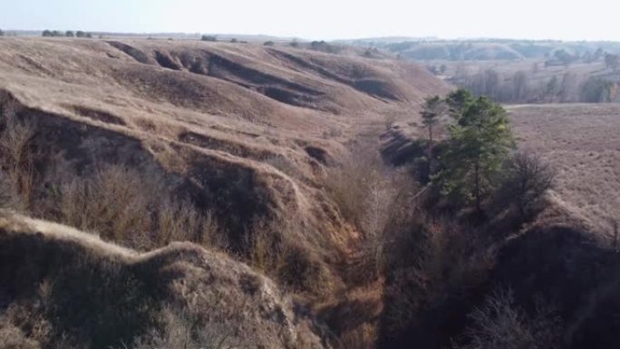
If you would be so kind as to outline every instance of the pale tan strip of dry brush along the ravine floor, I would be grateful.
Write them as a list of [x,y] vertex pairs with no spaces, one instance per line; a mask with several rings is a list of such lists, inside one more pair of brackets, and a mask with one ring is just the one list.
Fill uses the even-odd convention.
[[340,159],[328,171],[325,187],[358,235],[341,270],[348,288],[325,306],[322,317],[334,332],[335,347],[375,348],[390,247],[398,243],[397,234],[410,231],[419,189],[406,170],[384,164],[371,141]]

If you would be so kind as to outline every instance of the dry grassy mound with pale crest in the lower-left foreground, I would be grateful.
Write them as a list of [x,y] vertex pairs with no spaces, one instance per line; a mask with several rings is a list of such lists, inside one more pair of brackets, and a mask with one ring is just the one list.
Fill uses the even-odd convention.
[[9,266],[0,280],[17,292],[2,294],[12,324],[2,334],[24,333],[15,340],[107,349],[133,347],[139,337],[146,347],[218,347],[225,339],[224,348],[295,348],[303,337],[321,347],[271,281],[222,254],[178,243],[140,255],[10,213],[0,218],[0,240]]

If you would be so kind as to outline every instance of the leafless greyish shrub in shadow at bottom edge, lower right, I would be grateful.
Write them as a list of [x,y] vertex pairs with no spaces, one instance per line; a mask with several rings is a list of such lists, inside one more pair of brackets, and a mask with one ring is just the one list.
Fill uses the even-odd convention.
[[467,344],[455,349],[556,348],[560,340],[560,320],[553,308],[540,305],[529,316],[516,305],[510,290],[499,290],[470,314]]

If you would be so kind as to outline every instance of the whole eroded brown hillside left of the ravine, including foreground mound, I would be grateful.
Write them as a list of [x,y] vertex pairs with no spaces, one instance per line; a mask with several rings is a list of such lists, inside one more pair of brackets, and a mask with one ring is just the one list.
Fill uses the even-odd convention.
[[[243,338],[250,347],[346,347],[362,332],[368,335],[357,343],[375,342],[382,294],[377,284],[350,294],[358,286],[349,277],[350,257],[363,234],[327,183],[358,140],[371,140],[376,152],[386,125],[416,115],[426,95],[448,92],[445,83],[416,64],[363,57],[355,49],[334,54],[304,45],[21,37],[3,38],[0,48],[0,202],[103,241],[74,232],[71,247],[64,247],[66,235],[47,238],[46,231],[65,228],[29,228],[49,225],[30,221],[24,229],[5,228],[3,256],[12,267],[3,277],[36,285],[11,286],[5,305],[15,315],[3,313],[2,319],[7,336],[44,347],[63,344],[63,337],[68,347],[122,347],[121,340],[149,347],[172,343],[172,334],[189,328],[196,330],[191,335],[196,342],[209,330],[194,328],[190,303],[230,289],[230,295],[196,306],[199,325],[225,327],[225,334],[233,332],[233,344]],[[22,218],[7,219],[7,227],[22,227]],[[44,233],[41,246],[31,241],[37,237],[28,234],[32,230]],[[118,253],[82,251],[92,241]],[[41,255],[31,266],[35,276],[21,274],[19,266],[27,261],[11,252],[31,243],[41,248],[31,253]],[[153,250],[160,252],[143,254]],[[169,253],[173,256],[158,265],[161,271],[140,274],[142,266],[150,269],[149,256]],[[82,255],[89,256],[86,267],[71,266]],[[39,272],[48,257],[58,263]],[[211,283],[219,271],[204,258],[222,263],[222,273],[228,267],[233,274],[246,270],[244,263],[253,271],[251,277],[221,276],[225,281],[218,288]],[[79,288],[67,281],[73,273],[89,290],[75,299],[76,306],[103,297],[96,308],[73,314],[66,305]],[[237,294],[237,284],[246,292],[247,281],[247,295],[253,295],[255,275],[274,280],[257,278],[277,285],[266,292],[276,297],[283,315],[265,313],[272,309],[270,300]],[[53,280],[60,287],[49,305],[53,311],[34,308],[41,302],[36,288]],[[127,283],[137,283],[137,289],[126,294]],[[101,285],[112,286],[110,293],[98,291]],[[161,287],[180,288],[162,294]],[[279,293],[293,295],[295,304]],[[346,316],[335,331],[331,319],[355,308],[347,303],[352,297],[373,301],[375,315]],[[116,298],[119,307],[140,311],[101,310]],[[147,303],[131,303],[138,298]],[[257,311],[240,311],[245,303]],[[216,306],[223,315],[212,312]],[[86,319],[99,312],[102,317]],[[26,321],[23,314],[38,317]],[[236,323],[230,325],[227,316]],[[289,320],[315,325],[298,333],[287,325],[276,328]],[[48,323],[44,333],[32,331]],[[262,326],[274,332],[263,333]]]

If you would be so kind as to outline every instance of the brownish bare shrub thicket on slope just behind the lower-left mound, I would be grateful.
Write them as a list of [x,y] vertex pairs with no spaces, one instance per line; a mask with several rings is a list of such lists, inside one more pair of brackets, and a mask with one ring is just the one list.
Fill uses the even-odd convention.
[[228,247],[213,211],[201,212],[188,200],[174,199],[159,179],[144,179],[134,170],[108,166],[60,191],[63,223],[102,238],[142,250],[172,241]]

